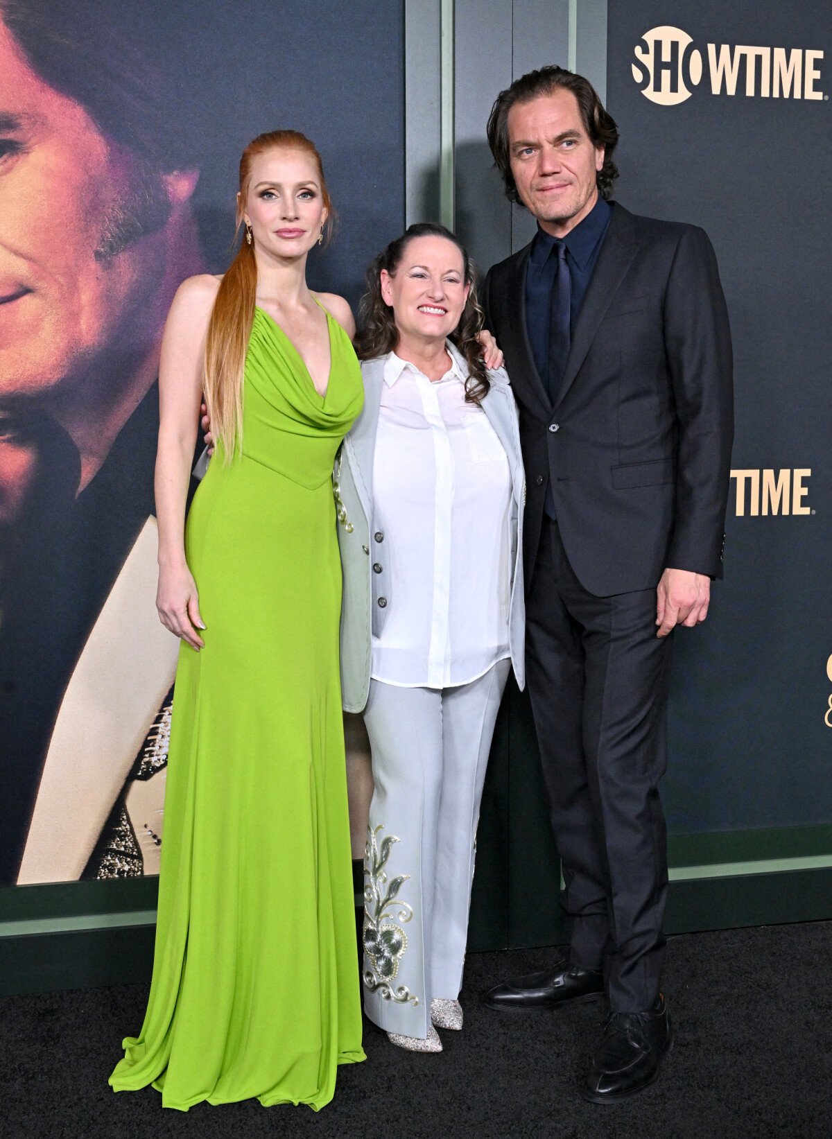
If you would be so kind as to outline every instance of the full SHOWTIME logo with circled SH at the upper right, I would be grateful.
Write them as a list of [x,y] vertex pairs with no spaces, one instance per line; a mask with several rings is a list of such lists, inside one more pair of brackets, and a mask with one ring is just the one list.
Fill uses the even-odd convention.
[[[823,51],[804,48],[752,48],[707,44],[712,95],[741,93],[762,99],[824,99],[817,67]],[[693,95],[705,73],[702,52],[680,27],[651,27],[635,47],[633,77],[651,103],[672,107]]]

